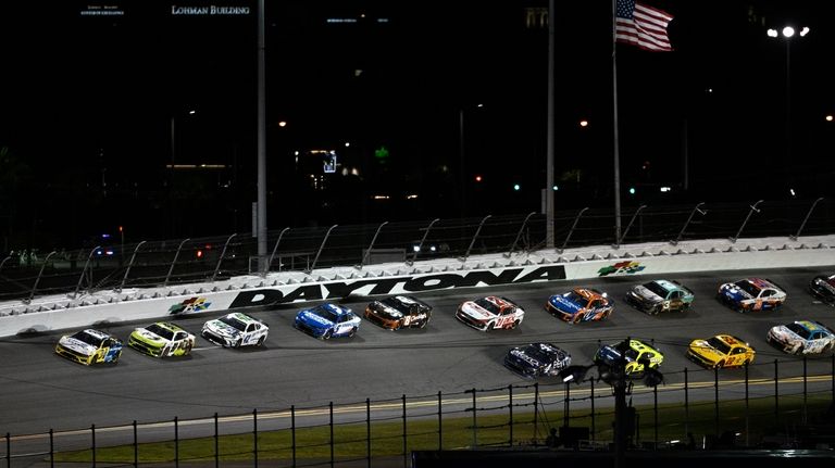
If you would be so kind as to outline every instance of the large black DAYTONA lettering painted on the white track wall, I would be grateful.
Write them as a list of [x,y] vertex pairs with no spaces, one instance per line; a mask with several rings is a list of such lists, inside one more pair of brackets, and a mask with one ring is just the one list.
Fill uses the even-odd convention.
[[565,279],[565,267],[562,265],[508,268],[498,273],[478,270],[399,278],[369,278],[347,282],[335,281],[323,284],[298,286],[284,291],[278,289],[241,291],[235,296],[228,308],[323,301],[348,298],[349,295],[384,295],[478,286],[523,284],[558,279]]

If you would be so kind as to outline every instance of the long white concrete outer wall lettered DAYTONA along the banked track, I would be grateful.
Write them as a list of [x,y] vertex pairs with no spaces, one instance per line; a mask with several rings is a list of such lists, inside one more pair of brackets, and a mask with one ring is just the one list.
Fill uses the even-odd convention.
[[[734,269],[821,267],[822,274],[832,274],[835,273],[835,250],[830,248],[833,241],[835,237],[812,244],[761,240],[745,246],[714,241],[712,246],[702,242],[681,248],[633,245],[624,251],[586,249],[559,255],[537,252],[507,257],[452,258],[411,267],[389,264],[365,270],[336,268],[314,275],[238,277],[219,283],[99,291],[74,299],[45,296],[29,304],[0,304],[0,337],[339,300],[349,295],[377,296],[623,276],[636,277],[635,281],[639,282],[640,276]],[[720,281],[718,279],[718,284]]]

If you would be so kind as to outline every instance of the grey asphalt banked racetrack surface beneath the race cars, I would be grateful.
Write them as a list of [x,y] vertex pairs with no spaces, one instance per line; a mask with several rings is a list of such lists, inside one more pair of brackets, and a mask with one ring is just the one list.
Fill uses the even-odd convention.
[[[732,333],[757,349],[755,364],[780,358],[781,375],[799,376],[801,358],[768,345],[765,333],[775,325],[797,319],[835,322],[835,308],[817,302],[807,290],[812,277],[833,270],[835,266],[666,275],[664,278],[677,279],[690,288],[696,300],[688,312],[659,316],[645,315],[622,300],[631,287],[656,279],[655,276],[433,291],[415,294],[434,306],[433,319],[425,329],[392,332],[363,320],[354,338],[331,341],[296,330],[292,320],[301,306],[284,305],[252,313],[270,325],[270,336],[264,346],[246,350],[222,349],[199,337],[202,322],[217,314],[179,317],[174,321],[198,336],[190,356],[155,359],[126,347],[115,366],[85,367],[55,355],[53,347],[62,333],[15,337],[0,341],[0,432],[42,434],[49,429],[66,431],[91,425],[129,426],[134,420],[171,421],[175,416],[180,420],[211,419],[215,413],[251,414],[258,408],[260,414],[269,414],[286,410],[290,405],[326,408],[328,402],[364,403],[365,399],[395,402],[391,412],[396,414],[396,402],[403,394],[410,399],[423,395],[432,401],[437,392],[454,394],[473,388],[529,384],[531,381],[504,368],[502,358],[510,347],[535,341],[558,344],[572,354],[575,364],[589,364],[599,342],[616,342],[626,337],[651,339],[664,352],[661,370],[675,372],[668,384],[681,387],[682,370],[688,368],[693,370],[689,381],[697,383],[697,388],[698,382],[712,382],[713,374],[697,370],[699,367],[686,358],[687,344],[696,338]],[[715,300],[720,283],[748,276],[767,277],[781,284],[788,293],[786,304],[777,311],[740,314]],[[615,299],[615,309],[609,319],[569,325],[544,311],[549,295],[575,286],[594,287]],[[456,320],[453,314],[462,301],[487,294],[504,295],[526,311],[518,329],[481,332]],[[341,303],[361,314],[367,302],[357,298]],[[126,341],[135,326],[122,324],[103,329]],[[749,371],[751,379],[763,382],[774,376],[771,365],[755,365]],[[828,376],[830,356],[810,358],[808,372]],[[724,369],[721,374],[723,379],[743,376],[738,369]],[[828,389],[830,380],[818,379],[818,385]],[[703,387],[702,400],[712,399],[712,387]],[[773,392],[771,383],[753,387],[761,388],[763,394]],[[673,401],[682,397],[681,392],[665,395]],[[529,392],[520,391],[518,399],[525,397],[531,397]],[[698,397],[690,395],[694,401]],[[464,405],[465,396],[458,399],[462,401],[453,404]],[[429,407],[427,414],[432,412]],[[322,412],[317,417],[327,420]],[[242,431],[251,427],[246,418],[240,423],[245,427]],[[171,434],[170,428],[161,430]],[[180,437],[187,430],[182,427]],[[123,442],[129,442],[129,431],[122,432]]]

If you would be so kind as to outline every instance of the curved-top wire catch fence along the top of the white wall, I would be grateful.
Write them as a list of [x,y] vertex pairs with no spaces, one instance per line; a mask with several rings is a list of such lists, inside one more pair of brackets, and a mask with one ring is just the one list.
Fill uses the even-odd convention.
[[[696,214],[700,216],[696,217]],[[612,238],[613,215],[610,210],[584,208],[558,212],[554,216],[556,238],[561,252],[568,248],[666,241],[673,245],[684,240],[727,238],[736,241],[745,231],[750,237],[835,232],[835,203],[781,201],[748,203],[699,203],[687,206],[647,206],[624,211],[627,229],[620,239]],[[741,226],[740,226],[741,223]],[[546,236],[545,215],[486,216],[482,218],[434,219],[375,225],[329,227],[285,227],[270,232],[272,250],[267,257],[257,255],[254,238],[238,233],[183,240],[151,241],[99,245],[90,250],[59,250],[46,257],[36,252],[7,255],[0,261],[0,301],[32,301],[36,294],[142,288],[189,282],[213,282],[233,276],[260,275],[267,271],[298,269],[312,273],[316,267],[350,266],[358,269],[369,264],[374,249],[404,249],[406,265],[431,258],[468,258],[470,255],[543,249]],[[308,252],[304,262],[294,255]],[[275,260],[278,258],[276,263]],[[290,265],[284,258],[292,258]],[[84,267],[80,267],[84,265]]]

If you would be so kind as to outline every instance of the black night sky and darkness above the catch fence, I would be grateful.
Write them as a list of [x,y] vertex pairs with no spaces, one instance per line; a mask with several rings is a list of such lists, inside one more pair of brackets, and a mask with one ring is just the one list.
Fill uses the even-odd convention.
[[[526,27],[525,8],[547,1],[450,3],[266,1],[272,228],[539,210],[548,35]],[[610,206],[611,4],[557,3],[557,207]],[[638,187],[634,202],[832,194],[834,8],[647,3],[675,16],[675,50],[618,46],[621,172],[624,189]],[[172,4],[250,13],[173,15]],[[124,14],[82,15],[88,5]],[[786,42],[765,29],[789,22],[811,33],[789,46],[787,94]],[[3,2],[3,249],[77,246],[120,225],[153,239],[249,230],[256,24],[256,3],[240,0]],[[337,150],[340,169],[358,175],[312,190],[294,156],[311,149]],[[660,186],[673,188],[665,199]]]

